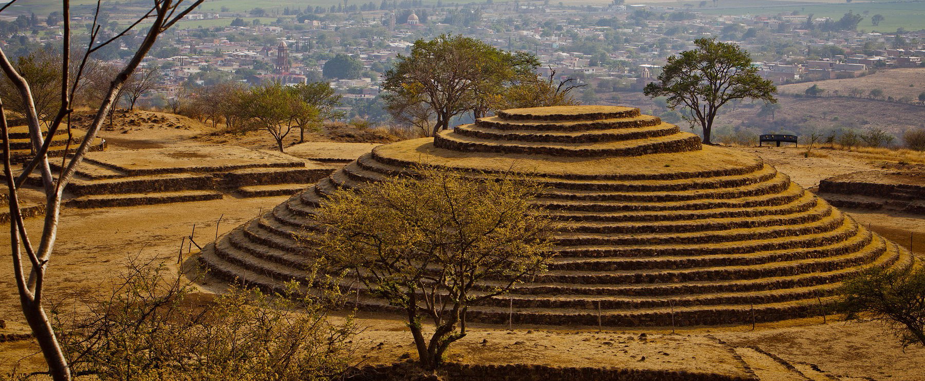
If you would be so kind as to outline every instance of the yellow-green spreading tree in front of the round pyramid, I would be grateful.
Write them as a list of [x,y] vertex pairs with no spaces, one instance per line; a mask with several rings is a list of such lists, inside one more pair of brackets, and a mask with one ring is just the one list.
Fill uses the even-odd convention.
[[[337,190],[316,210],[321,228],[307,232],[306,243],[403,310],[423,367],[435,369],[465,337],[470,306],[546,269],[554,225],[531,203],[541,191],[534,183],[413,170],[414,177]],[[434,326],[430,338],[424,319]]]

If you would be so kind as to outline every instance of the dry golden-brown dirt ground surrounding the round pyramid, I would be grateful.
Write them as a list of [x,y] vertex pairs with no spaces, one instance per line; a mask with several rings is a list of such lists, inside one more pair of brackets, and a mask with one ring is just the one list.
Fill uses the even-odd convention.
[[[192,145],[191,139],[207,132],[195,129],[140,128],[122,134],[119,129],[105,131],[111,149]],[[119,139],[124,139],[120,141]],[[218,142],[218,141],[210,141]],[[228,143],[230,141],[223,141]],[[249,145],[249,144],[246,144]],[[734,148],[761,155],[767,163],[805,187],[813,187],[821,178],[877,169],[880,163],[859,154],[829,154],[828,157],[802,157],[802,151],[786,148]],[[114,277],[129,255],[142,259],[158,258],[176,264],[183,236],[195,225],[195,240],[204,244],[237,227],[262,211],[284,201],[286,197],[225,199],[170,203],[127,208],[64,209],[56,253],[49,269],[48,295],[103,292],[101,285]],[[848,211],[860,223],[906,246],[901,240],[911,232],[925,237],[925,218],[921,215]],[[221,224],[216,221],[221,217]],[[28,220],[37,231],[41,219]],[[0,245],[8,244],[0,236]],[[918,242],[918,241],[917,241]],[[925,242],[915,244],[919,257],[925,256]],[[189,261],[190,258],[184,258]],[[204,292],[220,290],[223,283],[213,281]],[[94,291],[95,290],[95,291]],[[409,353],[414,357],[411,337],[401,320],[394,316],[362,313],[360,325],[366,327],[356,339],[368,356],[366,363],[390,363]],[[0,319],[6,320],[2,333],[27,331],[19,313],[12,266],[8,256],[0,259]],[[829,316],[751,326],[685,327],[672,335],[670,328],[617,329],[598,332],[595,327],[551,326],[470,326],[471,334],[450,350],[450,360],[462,363],[534,363],[552,365],[636,367],[647,369],[685,369],[743,375],[748,347],[758,347],[779,356],[797,368],[816,365],[831,375],[870,377],[877,380],[925,381],[925,349],[901,350],[879,323],[839,321]],[[647,333],[648,340],[639,339]],[[383,343],[383,345],[378,345]],[[608,344],[610,343],[610,344]],[[365,348],[368,347],[368,348]],[[368,349],[368,350],[366,350]],[[743,350],[743,351],[740,351]],[[8,372],[20,359],[24,369],[38,369],[41,355],[29,340],[0,343],[0,375]],[[504,353],[504,356],[499,356]],[[751,353],[755,354],[755,353]],[[645,356],[645,360],[642,360]],[[774,373],[779,364],[770,357],[746,359],[763,380],[781,380]]]

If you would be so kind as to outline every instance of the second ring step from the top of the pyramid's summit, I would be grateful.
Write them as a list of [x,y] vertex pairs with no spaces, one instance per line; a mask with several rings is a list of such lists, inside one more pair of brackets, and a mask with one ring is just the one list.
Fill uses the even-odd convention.
[[595,129],[632,129],[658,126],[660,117],[648,115],[638,117],[608,118],[598,120],[561,121],[549,123],[537,120],[506,120],[501,117],[482,117],[475,120],[475,126],[488,129],[529,129],[536,131],[588,131]]

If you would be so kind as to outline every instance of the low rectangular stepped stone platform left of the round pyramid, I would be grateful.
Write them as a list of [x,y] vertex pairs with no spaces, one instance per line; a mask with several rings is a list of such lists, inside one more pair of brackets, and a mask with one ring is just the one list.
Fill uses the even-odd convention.
[[[60,169],[60,162],[50,163]],[[65,188],[67,206],[98,208],[291,195],[334,167],[274,151],[231,145],[87,154]],[[53,171],[56,172],[56,171]],[[32,173],[28,183],[41,186]]]

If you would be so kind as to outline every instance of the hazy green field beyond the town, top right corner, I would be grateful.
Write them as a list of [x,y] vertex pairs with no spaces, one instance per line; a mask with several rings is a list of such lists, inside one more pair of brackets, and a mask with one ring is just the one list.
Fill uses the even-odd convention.
[[[816,17],[841,18],[849,10],[864,16],[857,25],[858,30],[864,31],[896,31],[905,28],[907,31],[925,29],[925,1],[903,2],[853,2],[832,4],[783,4],[773,1],[756,1],[763,3],[754,6],[695,8],[699,12],[710,15],[776,15],[781,12],[799,12],[800,15],[813,14]],[[776,3],[776,4],[775,4]],[[880,14],[885,19],[879,26],[870,24],[870,17]]]

